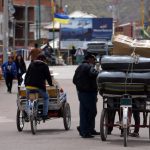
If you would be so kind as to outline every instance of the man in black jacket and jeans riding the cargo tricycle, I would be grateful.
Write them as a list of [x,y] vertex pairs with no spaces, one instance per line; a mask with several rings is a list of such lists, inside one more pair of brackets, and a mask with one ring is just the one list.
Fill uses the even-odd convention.
[[46,80],[50,86],[52,86],[52,78],[48,65],[45,63],[46,58],[44,55],[40,54],[37,57],[37,60],[34,60],[29,65],[25,76],[25,86],[27,90],[36,89],[39,91],[40,95],[44,99],[43,104],[43,119],[47,119],[48,116],[48,103],[49,96],[46,92]]

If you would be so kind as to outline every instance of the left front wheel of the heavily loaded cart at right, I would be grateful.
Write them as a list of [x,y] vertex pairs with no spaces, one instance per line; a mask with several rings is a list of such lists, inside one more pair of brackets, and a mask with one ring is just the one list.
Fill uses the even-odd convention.
[[100,118],[100,136],[102,141],[106,141],[108,133],[108,112],[107,109],[103,109]]

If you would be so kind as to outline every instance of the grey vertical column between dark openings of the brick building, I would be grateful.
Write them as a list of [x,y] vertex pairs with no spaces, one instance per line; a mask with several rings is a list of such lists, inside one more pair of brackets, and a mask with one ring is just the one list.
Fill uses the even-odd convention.
[[25,43],[24,47],[27,50],[28,49],[28,5],[29,5],[29,0],[25,1]]

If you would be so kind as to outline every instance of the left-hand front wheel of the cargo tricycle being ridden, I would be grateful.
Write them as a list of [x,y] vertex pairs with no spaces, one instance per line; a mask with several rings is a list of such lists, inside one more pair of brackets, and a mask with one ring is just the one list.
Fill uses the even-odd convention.
[[20,110],[19,108],[17,109],[17,116],[16,116],[16,124],[17,124],[17,129],[19,132],[21,132],[24,128],[24,112]]

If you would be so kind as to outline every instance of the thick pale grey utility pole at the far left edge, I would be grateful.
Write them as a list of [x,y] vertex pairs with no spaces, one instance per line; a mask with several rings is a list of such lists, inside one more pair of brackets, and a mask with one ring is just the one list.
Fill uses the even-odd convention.
[[4,0],[3,8],[3,62],[7,60],[7,51],[9,47],[8,39],[8,0]]

